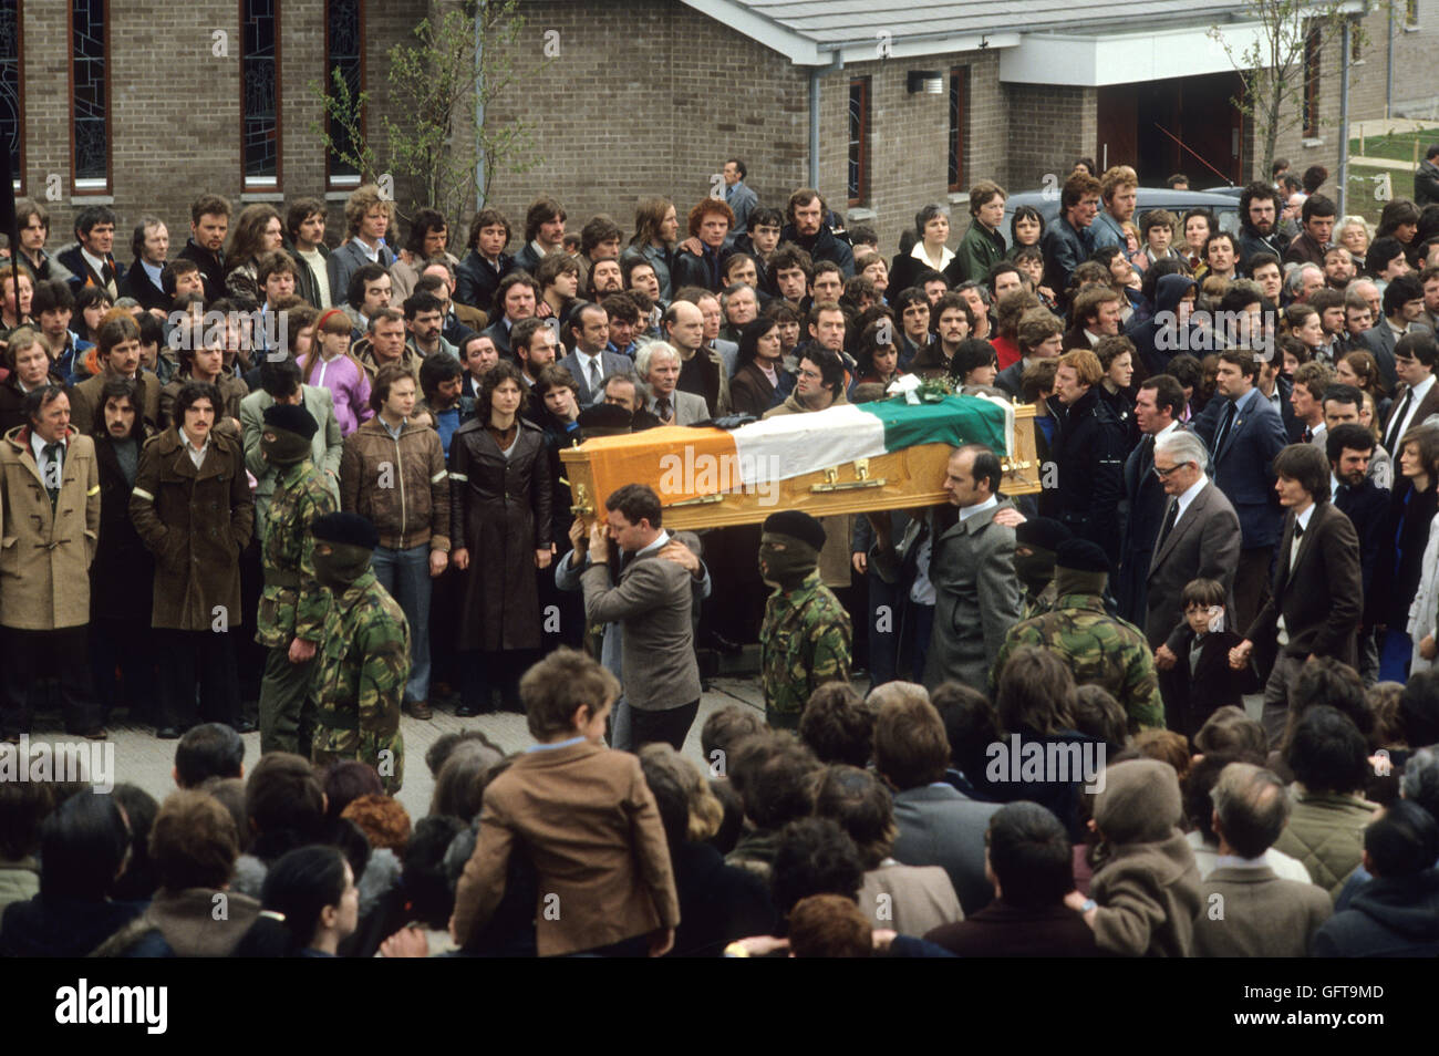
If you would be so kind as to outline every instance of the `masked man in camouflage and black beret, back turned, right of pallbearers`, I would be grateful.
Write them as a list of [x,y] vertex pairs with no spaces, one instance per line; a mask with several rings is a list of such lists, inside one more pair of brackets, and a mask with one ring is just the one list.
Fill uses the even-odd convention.
[[1063,660],[1081,686],[1102,686],[1130,716],[1130,728],[1164,727],[1154,653],[1144,632],[1109,616],[1104,587],[1109,558],[1088,540],[1065,540],[1055,551],[1055,607],[1016,623],[990,670],[990,692],[1019,646],[1039,646]]

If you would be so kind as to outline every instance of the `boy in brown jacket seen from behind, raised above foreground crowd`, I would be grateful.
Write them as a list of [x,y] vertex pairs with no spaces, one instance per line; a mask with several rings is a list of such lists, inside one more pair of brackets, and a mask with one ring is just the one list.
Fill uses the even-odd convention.
[[485,790],[479,840],[455,892],[456,945],[499,905],[515,846],[538,873],[541,957],[662,957],[673,945],[679,898],[655,796],[635,755],[604,747],[619,692],[574,649],[557,649],[519,681],[538,744]]

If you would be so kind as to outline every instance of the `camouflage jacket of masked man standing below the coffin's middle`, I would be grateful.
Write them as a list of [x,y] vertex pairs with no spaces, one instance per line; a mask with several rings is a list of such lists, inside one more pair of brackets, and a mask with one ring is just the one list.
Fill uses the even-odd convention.
[[770,725],[793,729],[810,693],[823,682],[849,681],[849,613],[820,583],[819,571],[797,590],[776,590],[760,627],[760,672]]

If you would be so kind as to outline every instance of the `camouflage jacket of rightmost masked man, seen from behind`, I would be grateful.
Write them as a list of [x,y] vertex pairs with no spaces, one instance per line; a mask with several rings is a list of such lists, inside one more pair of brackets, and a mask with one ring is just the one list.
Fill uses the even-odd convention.
[[990,670],[990,688],[1019,646],[1053,650],[1069,665],[1076,685],[1108,689],[1124,706],[1131,724],[1164,727],[1154,653],[1132,623],[1109,616],[1098,594],[1062,594],[1052,611],[1016,623]]

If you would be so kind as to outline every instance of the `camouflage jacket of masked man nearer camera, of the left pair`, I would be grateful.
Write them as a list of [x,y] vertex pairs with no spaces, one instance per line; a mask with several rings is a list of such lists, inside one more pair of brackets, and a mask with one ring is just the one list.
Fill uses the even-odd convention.
[[315,657],[312,758],[368,763],[393,796],[404,781],[400,698],[410,678],[410,627],[373,571],[334,601]]

